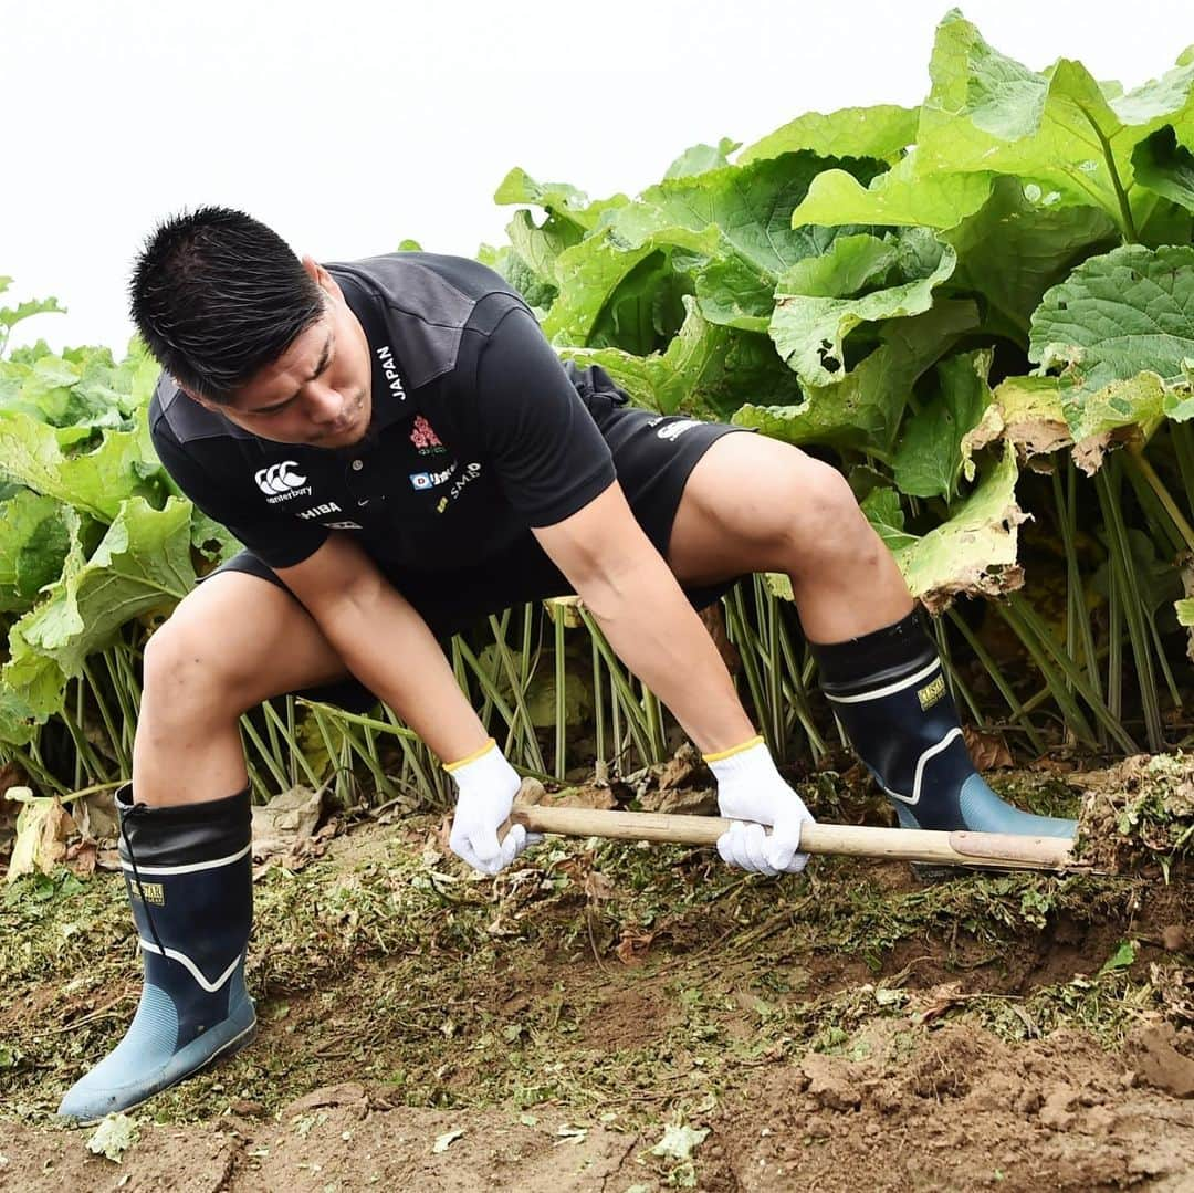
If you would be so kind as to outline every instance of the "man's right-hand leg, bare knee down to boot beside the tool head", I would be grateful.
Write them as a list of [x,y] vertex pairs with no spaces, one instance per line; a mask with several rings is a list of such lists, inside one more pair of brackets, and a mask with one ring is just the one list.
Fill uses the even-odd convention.
[[1073,835],[1072,820],[1018,811],[974,770],[907,585],[835,468],[725,436],[689,476],[667,560],[690,585],[788,574],[821,688],[905,828]]

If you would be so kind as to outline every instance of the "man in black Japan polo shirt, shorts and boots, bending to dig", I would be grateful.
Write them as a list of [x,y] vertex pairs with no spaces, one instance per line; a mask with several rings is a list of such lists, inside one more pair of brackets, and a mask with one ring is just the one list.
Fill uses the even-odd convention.
[[131,303],[164,368],[161,460],[246,551],[146,650],[118,795],[144,991],[61,1113],[136,1105],[254,1029],[238,720],[265,697],[381,697],[456,780],[456,853],[496,873],[524,848],[522,828],[497,836],[518,775],[439,646],[510,604],[581,596],[703,751],[731,865],[800,871],[811,819],[694,608],[764,570],[792,578],[826,695],[903,825],[1072,834],[974,771],[909,590],[838,472],[628,407],[601,369],[561,365],[491,270],[430,253],[300,263],[257,221],[207,208],[150,236]]

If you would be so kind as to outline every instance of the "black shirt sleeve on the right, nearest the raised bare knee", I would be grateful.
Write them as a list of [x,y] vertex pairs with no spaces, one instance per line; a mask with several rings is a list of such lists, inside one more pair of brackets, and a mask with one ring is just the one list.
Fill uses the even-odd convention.
[[562,522],[616,479],[614,457],[534,315],[513,308],[476,365],[475,428],[529,527]]

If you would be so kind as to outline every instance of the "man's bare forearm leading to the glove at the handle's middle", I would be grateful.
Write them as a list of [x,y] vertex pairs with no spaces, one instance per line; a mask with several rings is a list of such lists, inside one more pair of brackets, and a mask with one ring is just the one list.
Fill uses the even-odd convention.
[[702,752],[728,750],[755,734],[713,639],[654,549],[577,588],[618,657]]

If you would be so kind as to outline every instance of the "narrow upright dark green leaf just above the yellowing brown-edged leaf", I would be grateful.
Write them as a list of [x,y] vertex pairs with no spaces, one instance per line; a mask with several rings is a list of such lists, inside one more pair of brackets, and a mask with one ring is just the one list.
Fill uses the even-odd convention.
[[962,439],[991,401],[991,350],[942,361],[937,393],[909,419],[896,453],[896,484],[912,497],[950,502],[961,476]]

